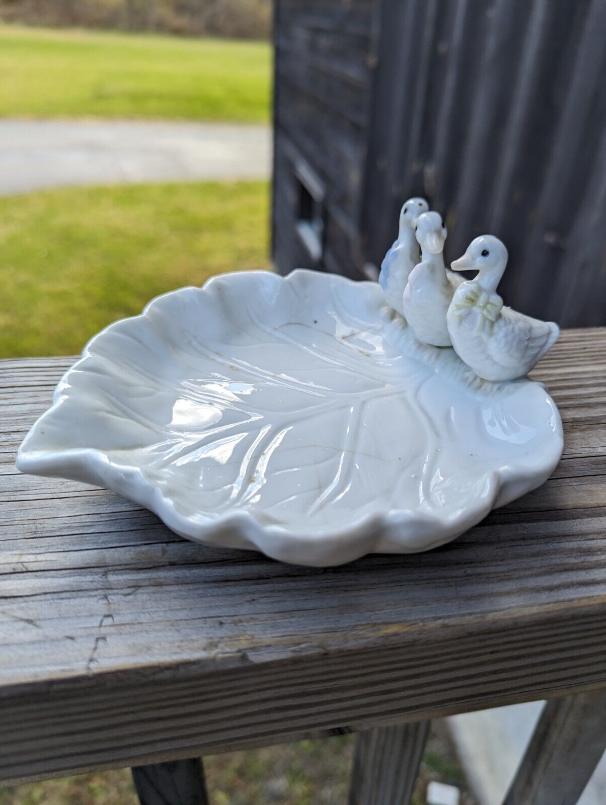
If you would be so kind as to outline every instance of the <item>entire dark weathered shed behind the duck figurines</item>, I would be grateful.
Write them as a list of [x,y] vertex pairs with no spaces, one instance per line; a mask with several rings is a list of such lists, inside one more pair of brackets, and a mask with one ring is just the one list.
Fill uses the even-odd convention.
[[508,304],[606,324],[606,0],[276,0],[273,254],[376,273],[426,196]]

